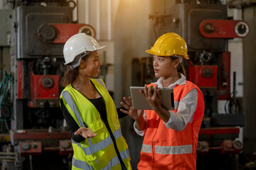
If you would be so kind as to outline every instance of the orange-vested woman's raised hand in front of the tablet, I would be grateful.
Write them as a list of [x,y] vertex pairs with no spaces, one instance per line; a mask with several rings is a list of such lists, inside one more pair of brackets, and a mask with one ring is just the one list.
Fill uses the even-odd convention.
[[161,93],[157,85],[153,89],[153,86],[147,88],[145,84],[144,91],[140,90],[139,92],[146,98],[153,110],[156,111],[157,108],[161,107]]

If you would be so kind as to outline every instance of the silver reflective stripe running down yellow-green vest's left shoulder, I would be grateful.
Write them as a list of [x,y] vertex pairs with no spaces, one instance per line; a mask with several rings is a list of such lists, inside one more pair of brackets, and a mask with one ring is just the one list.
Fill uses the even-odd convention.
[[72,96],[70,95],[70,93],[68,91],[63,91],[62,94],[63,94],[63,98],[68,103],[68,106],[70,106],[72,111],[75,113],[75,117],[77,118],[78,123],[80,124],[80,127],[84,127],[85,125],[83,125],[83,123],[82,123],[82,118],[81,118],[80,114],[78,113],[78,108],[75,106],[75,102],[73,101]]

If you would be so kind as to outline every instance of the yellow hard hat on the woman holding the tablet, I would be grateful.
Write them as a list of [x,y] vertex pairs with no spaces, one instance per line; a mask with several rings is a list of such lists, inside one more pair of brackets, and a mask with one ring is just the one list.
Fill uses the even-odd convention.
[[154,46],[150,50],[146,50],[146,52],[159,56],[181,55],[186,60],[189,59],[186,42],[176,33],[161,35],[154,43]]

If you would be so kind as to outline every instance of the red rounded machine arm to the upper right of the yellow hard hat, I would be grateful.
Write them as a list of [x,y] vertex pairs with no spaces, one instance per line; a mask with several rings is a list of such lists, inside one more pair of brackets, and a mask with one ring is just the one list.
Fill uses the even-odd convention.
[[204,20],[199,31],[206,38],[245,38],[249,33],[249,26],[245,21]]

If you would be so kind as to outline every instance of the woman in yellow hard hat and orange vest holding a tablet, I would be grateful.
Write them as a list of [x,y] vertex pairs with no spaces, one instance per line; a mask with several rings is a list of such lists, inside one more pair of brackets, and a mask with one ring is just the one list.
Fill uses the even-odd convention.
[[[134,130],[144,136],[139,170],[142,169],[196,169],[198,132],[204,112],[203,94],[198,86],[186,81],[181,64],[188,60],[186,42],[176,33],[166,33],[156,40],[151,50],[154,57],[154,73],[159,79],[145,85],[140,91],[152,110],[137,111],[124,97],[122,106],[134,118]],[[186,74],[185,74],[186,75]],[[154,94],[151,93],[152,87]],[[161,106],[158,88],[174,89],[174,111]]]

